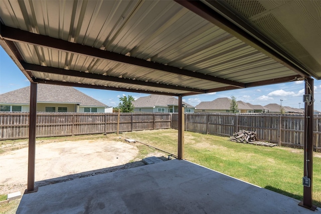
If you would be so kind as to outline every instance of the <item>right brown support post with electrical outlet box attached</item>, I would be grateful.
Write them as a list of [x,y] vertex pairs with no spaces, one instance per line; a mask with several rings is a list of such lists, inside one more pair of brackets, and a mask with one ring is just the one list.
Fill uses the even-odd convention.
[[309,179],[309,185],[303,185],[303,200],[300,206],[315,210],[312,205],[312,172],[313,172],[313,79],[305,79],[305,94],[310,95],[310,101],[304,100],[304,177]]

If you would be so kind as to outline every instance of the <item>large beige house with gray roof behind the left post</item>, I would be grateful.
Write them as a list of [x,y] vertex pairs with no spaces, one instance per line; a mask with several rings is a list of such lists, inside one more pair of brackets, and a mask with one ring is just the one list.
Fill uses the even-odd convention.
[[[0,111],[29,112],[30,86],[0,94]],[[38,84],[38,112],[105,112],[107,105],[73,87]]]

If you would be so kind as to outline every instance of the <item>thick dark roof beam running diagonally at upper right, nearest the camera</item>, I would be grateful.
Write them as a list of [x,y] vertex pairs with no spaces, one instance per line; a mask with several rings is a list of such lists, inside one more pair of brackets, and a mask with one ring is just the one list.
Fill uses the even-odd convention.
[[[223,17],[221,14],[208,7],[201,1],[188,1],[188,0],[174,0],[178,4],[182,5],[186,9],[192,11],[193,13],[199,15],[205,20],[213,23],[229,34],[235,36],[236,38],[242,40],[246,44],[252,46],[253,48],[259,50],[266,56],[273,58],[275,61],[283,64],[285,67],[295,71],[302,77],[309,77],[309,70],[305,68],[304,65],[295,60],[292,56],[288,55],[281,48],[270,42],[263,35],[259,34],[257,31],[252,29],[249,25],[241,21],[237,16],[222,7],[221,1],[207,1],[216,10],[219,10],[223,14],[234,20],[237,20],[237,24],[241,25],[242,28],[232,23],[227,18]],[[223,11],[223,12],[222,12]],[[245,29],[245,30],[244,30]],[[250,32],[250,33],[248,33]],[[254,36],[252,36],[254,35]],[[259,39],[257,39],[259,38]],[[262,42],[263,41],[263,42]],[[271,48],[272,47],[272,48]]]

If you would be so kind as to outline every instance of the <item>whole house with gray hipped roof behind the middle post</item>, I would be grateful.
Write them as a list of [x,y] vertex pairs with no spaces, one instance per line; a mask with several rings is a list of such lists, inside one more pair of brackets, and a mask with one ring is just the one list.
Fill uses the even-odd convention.
[[[179,112],[179,100],[172,96],[149,95],[133,101],[134,111],[141,112]],[[183,102],[185,112],[194,113],[195,107]]]

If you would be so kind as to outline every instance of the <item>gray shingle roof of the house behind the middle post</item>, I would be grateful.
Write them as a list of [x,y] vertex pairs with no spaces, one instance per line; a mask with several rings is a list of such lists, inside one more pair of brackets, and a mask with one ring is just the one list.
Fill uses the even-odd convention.
[[[146,97],[140,97],[137,100],[133,101],[132,104],[135,108],[140,107],[153,107],[153,106],[169,106],[169,105],[179,105],[179,100],[172,96],[165,95],[149,95]],[[194,108],[194,106],[183,102],[183,104],[187,105],[188,108]]]

